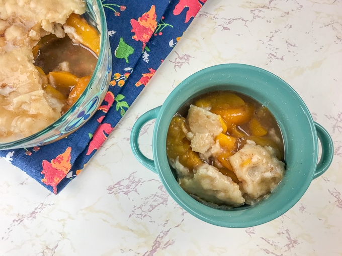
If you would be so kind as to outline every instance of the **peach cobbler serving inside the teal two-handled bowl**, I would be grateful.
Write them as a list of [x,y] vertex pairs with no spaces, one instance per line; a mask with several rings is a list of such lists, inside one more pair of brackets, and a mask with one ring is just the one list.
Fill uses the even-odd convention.
[[207,93],[182,107],[169,125],[166,153],[180,186],[219,206],[253,205],[285,174],[277,121],[265,106],[236,92]]

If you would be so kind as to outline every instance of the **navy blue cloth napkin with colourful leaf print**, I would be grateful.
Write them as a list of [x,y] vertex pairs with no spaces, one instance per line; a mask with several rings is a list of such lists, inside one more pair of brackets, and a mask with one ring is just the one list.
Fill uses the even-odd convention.
[[102,105],[67,138],[42,147],[0,151],[0,157],[53,193],[60,192],[105,142],[205,2],[102,0],[113,57]]

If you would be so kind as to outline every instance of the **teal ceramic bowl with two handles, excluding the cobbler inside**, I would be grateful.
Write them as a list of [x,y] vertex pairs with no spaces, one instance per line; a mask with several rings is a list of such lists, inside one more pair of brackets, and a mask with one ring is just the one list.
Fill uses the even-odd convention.
[[[246,94],[265,106],[276,117],[285,146],[286,174],[271,195],[254,206],[218,209],[204,205],[188,195],[177,183],[166,157],[166,135],[177,110],[192,98],[218,90]],[[141,127],[156,118],[152,151],[153,160],[139,149]],[[318,140],[321,158],[318,162]],[[131,148],[135,157],[157,173],[167,192],[186,211],[208,223],[223,227],[250,227],[271,221],[294,206],[311,181],[324,173],[333,157],[329,134],[312,116],[303,100],[285,81],[258,67],[223,64],[201,70],[179,84],[162,106],[143,114],[133,126]]]

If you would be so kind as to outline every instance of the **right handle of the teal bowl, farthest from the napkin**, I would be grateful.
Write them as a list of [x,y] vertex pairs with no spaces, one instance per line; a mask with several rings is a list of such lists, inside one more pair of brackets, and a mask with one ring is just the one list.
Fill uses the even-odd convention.
[[313,179],[316,179],[322,175],[330,166],[333,157],[333,143],[328,132],[317,122],[314,122],[316,126],[316,131],[318,139],[322,146],[321,159],[319,160],[316,171],[313,175]]

